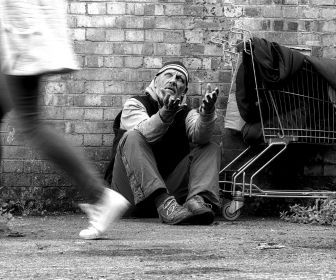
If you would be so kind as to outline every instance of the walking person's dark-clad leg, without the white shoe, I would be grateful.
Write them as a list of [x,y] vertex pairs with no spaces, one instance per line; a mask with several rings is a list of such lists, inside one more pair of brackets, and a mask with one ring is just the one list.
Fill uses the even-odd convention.
[[102,196],[104,182],[82,154],[40,120],[38,76],[6,76],[18,124],[32,145],[63,169],[76,182],[78,189],[92,202]]

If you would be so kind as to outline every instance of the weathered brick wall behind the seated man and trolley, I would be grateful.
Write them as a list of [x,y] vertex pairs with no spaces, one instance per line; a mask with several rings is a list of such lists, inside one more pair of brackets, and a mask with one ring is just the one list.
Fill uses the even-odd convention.
[[[191,73],[189,102],[199,105],[201,89],[220,88],[217,140],[226,160],[242,148],[239,134],[223,129],[230,67],[210,43],[232,27],[312,55],[336,57],[335,0],[70,0],[69,25],[81,71],[46,78],[43,119],[83,149],[99,171],[110,158],[112,121],[125,99],[143,92],[157,69],[178,58]],[[3,130],[13,122],[8,116]],[[5,144],[1,165],[3,197],[69,196],[71,182],[15,135]],[[306,173],[336,176],[335,149]],[[322,168],[322,169],[321,169]],[[49,188],[48,188],[49,187]],[[50,192],[55,189],[55,192]],[[72,192],[71,192],[71,195]]]

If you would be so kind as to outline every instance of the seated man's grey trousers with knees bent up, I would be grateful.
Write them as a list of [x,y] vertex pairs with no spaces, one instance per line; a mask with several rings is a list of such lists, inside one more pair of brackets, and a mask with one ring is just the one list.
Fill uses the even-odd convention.
[[150,143],[139,132],[128,131],[117,148],[112,188],[133,205],[149,202],[155,191],[167,189],[179,204],[199,194],[206,202],[219,206],[220,159],[218,144],[197,146],[167,178],[162,178]]

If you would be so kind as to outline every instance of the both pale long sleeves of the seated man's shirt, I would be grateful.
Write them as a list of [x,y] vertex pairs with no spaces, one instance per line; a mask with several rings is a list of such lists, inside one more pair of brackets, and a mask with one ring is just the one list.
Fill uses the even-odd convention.
[[[205,114],[196,109],[189,111],[186,117],[186,133],[193,144],[205,144],[210,141],[216,121],[216,113]],[[149,143],[158,141],[168,130],[170,123],[162,121],[159,112],[148,115],[145,106],[135,98],[128,99],[123,107],[120,128],[138,130]]]

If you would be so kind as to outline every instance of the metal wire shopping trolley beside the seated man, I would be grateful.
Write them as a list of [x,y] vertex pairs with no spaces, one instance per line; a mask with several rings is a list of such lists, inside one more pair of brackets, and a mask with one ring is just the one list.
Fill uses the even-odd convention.
[[256,183],[257,176],[283,154],[289,144],[336,144],[335,89],[306,59],[300,69],[284,81],[266,84],[255,63],[253,37],[246,30],[230,30],[227,38],[217,37],[211,41],[223,47],[224,60],[231,60],[233,73],[237,73],[239,55],[245,55],[254,88],[252,100],[258,111],[254,125],[260,132],[254,144],[220,171],[223,217],[237,219],[245,197],[327,198],[335,195],[332,191],[264,189]]

